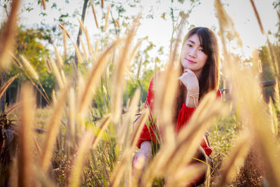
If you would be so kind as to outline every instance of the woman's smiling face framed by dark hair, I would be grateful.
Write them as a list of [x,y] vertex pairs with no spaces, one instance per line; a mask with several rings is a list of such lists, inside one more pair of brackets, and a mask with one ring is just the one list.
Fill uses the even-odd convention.
[[192,70],[197,77],[200,77],[202,68],[207,62],[207,55],[200,46],[200,38],[197,34],[190,36],[185,43],[181,52],[181,64],[184,69]]

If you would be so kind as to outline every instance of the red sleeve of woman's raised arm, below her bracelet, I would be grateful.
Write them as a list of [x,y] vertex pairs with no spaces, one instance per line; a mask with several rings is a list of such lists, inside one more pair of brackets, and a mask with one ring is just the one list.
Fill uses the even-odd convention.
[[[217,97],[218,98],[222,97],[222,94],[221,94],[220,90],[217,91]],[[190,107],[186,106],[185,103],[182,104],[182,108],[179,112],[178,119],[177,119],[176,132],[179,132],[183,126],[188,124],[188,121],[190,120],[190,117],[195,112],[195,109],[196,108],[190,108]],[[202,148],[204,149],[204,151],[207,155],[211,155],[212,150],[211,150],[211,148],[209,147],[209,144],[207,144],[207,141],[205,141],[204,138],[202,139],[202,143],[200,144],[200,146],[202,146]]]

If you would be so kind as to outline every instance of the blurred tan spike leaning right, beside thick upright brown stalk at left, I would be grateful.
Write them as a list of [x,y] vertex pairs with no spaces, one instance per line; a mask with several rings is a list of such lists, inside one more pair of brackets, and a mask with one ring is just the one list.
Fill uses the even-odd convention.
[[66,95],[69,91],[69,85],[66,85],[63,90],[61,90],[57,102],[52,109],[52,115],[48,120],[48,130],[47,136],[45,137],[45,142],[43,146],[42,158],[41,158],[41,169],[43,172],[48,171],[48,167],[50,165],[50,158],[52,156],[52,150],[55,147],[55,139],[57,138],[57,134],[59,132],[59,119],[62,116],[63,107],[66,102]]

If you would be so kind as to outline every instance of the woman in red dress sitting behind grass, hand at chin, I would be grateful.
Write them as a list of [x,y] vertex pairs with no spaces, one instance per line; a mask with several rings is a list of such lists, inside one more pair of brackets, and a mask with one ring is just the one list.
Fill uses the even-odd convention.
[[[183,40],[181,50],[181,76],[179,77],[179,93],[176,99],[176,112],[174,120],[176,121],[176,132],[181,130],[193,112],[197,108],[200,99],[210,92],[217,90],[217,95],[221,97],[218,90],[219,82],[219,62],[218,62],[218,41],[214,32],[206,27],[196,27],[191,29]],[[153,78],[148,88],[146,105],[153,111]],[[137,167],[137,161],[140,157],[148,160],[152,155],[152,144],[157,144],[155,134],[155,125],[152,123],[150,129],[147,125],[141,132],[137,146],[139,153],[134,155],[133,166]],[[153,141],[153,142],[152,142]],[[211,148],[205,140],[197,152],[197,158],[207,160],[207,155],[211,154]],[[196,185],[202,183],[204,176],[196,179]]]

